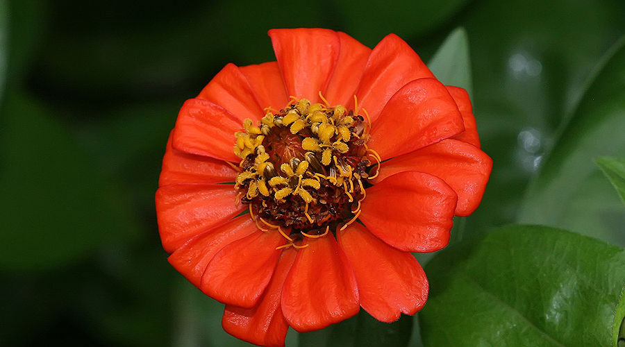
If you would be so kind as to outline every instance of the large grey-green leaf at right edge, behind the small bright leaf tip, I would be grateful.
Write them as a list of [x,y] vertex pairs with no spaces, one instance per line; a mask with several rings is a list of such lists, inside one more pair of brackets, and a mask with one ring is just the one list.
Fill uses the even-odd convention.
[[528,189],[522,223],[585,232],[625,245],[625,210],[592,158],[625,157],[625,37],[594,81]]

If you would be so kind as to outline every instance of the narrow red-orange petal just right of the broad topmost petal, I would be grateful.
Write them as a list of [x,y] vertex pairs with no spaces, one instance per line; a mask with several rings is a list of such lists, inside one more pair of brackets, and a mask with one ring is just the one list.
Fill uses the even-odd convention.
[[[346,33],[338,33],[339,58],[324,94],[330,105],[351,105],[371,49]],[[348,106],[349,108],[349,106]]]

